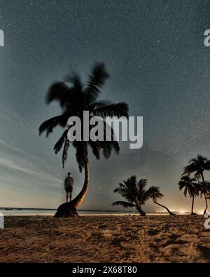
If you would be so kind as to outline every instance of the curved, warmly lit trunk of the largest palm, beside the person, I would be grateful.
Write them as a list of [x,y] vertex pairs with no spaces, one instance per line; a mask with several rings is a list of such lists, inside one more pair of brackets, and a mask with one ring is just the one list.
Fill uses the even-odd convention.
[[74,198],[72,201],[63,203],[59,205],[57,208],[57,212],[55,213],[54,217],[77,217],[78,213],[76,209],[80,203],[83,202],[85,195],[87,194],[87,189],[89,187],[89,165],[87,163],[87,157],[84,154],[84,171],[85,171],[85,180],[83,184],[83,189],[80,191],[78,196]]

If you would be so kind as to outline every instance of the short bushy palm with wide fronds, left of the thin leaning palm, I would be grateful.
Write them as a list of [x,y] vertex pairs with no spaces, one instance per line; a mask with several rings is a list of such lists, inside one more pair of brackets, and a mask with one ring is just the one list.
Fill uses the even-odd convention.
[[122,205],[124,208],[136,208],[140,215],[146,216],[144,210],[141,206],[146,203],[146,201],[151,198],[156,187],[150,187],[146,190],[146,179],[141,179],[137,183],[137,177],[133,175],[128,178],[127,181],[119,184],[119,187],[114,189],[114,192],[123,196],[125,201],[116,201],[112,205]]

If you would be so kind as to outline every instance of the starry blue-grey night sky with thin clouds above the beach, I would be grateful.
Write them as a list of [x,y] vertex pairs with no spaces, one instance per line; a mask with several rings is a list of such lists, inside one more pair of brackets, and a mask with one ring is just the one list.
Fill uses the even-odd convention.
[[[72,70],[87,80],[96,61],[111,79],[101,99],[125,101],[130,116],[144,116],[144,147],[124,142],[118,156],[90,154],[90,190],[80,208],[112,209],[113,189],[131,175],[160,186],[172,210],[190,210],[177,182],[190,158],[210,158],[210,3],[200,0],[0,0],[0,206],[56,208],[64,177],[83,184],[74,152],[62,169],[38,126],[59,114],[45,105],[50,84]],[[210,180],[210,175],[205,173]],[[196,200],[201,210],[203,200]],[[146,210],[158,210],[153,203]]]

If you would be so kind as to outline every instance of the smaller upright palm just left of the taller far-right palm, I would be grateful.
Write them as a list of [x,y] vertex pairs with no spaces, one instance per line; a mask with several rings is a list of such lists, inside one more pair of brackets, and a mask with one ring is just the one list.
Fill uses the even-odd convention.
[[179,189],[183,191],[184,196],[187,197],[187,194],[189,194],[190,198],[193,198],[192,201],[192,207],[191,207],[191,215],[196,215],[195,212],[193,212],[193,207],[194,207],[194,200],[195,196],[199,196],[199,190],[200,187],[196,183],[195,178],[191,178],[189,175],[184,175],[181,177],[181,180],[179,181]]

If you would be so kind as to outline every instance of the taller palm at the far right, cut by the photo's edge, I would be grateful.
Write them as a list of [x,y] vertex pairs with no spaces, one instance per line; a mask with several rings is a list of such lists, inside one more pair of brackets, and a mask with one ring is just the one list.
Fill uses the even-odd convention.
[[201,155],[197,155],[196,158],[192,158],[188,165],[184,168],[183,175],[190,175],[191,173],[195,173],[195,177],[197,180],[202,180],[200,182],[202,184],[202,191],[204,194],[206,208],[204,213],[207,211],[208,203],[207,203],[207,189],[206,189],[206,182],[204,180],[204,170],[210,170],[210,161],[207,158],[204,158]]

